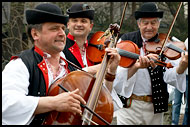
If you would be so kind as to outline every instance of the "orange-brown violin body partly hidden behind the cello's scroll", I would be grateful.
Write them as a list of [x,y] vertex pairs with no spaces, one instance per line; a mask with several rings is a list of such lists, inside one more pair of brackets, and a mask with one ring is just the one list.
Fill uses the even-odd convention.
[[[104,32],[98,31],[98,32],[94,33],[90,39],[91,45],[89,45],[87,48],[87,57],[92,62],[101,62],[103,59],[103,56],[105,54],[105,44],[104,43],[106,41],[106,38],[103,37],[100,39],[100,41],[97,41],[103,34],[104,34]],[[103,49],[99,50],[97,47],[95,47],[93,45],[102,45]],[[138,46],[129,40],[121,41],[120,43],[118,43],[116,45],[116,47],[118,49],[122,49],[122,50],[125,50],[128,52],[140,54]],[[119,52],[119,54],[120,54],[120,52]],[[121,60],[120,60],[119,65],[127,68],[127,67],[132,66],[135,63],[135,61],[136,61],[135,58],[133,58],[133,57],[131,58],[130,55],[125,54],[125,56],[121,55]]]

